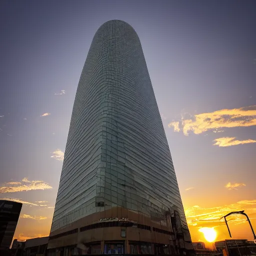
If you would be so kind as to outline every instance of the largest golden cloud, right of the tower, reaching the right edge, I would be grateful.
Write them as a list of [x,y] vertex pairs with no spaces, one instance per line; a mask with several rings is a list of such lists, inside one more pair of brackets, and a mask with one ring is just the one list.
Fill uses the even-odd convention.
[[[188,135],[189,131],[200,134],[207,130],[216,130],[224,127],[256,125],[256,105],[195,114],[193,118],[183,118],[181,125],[184,135]],[[174,131],[179,131],[177,128],[175,129],[175,127],[178,127],[176,122],[170,122],[168,126],[173,126]]]

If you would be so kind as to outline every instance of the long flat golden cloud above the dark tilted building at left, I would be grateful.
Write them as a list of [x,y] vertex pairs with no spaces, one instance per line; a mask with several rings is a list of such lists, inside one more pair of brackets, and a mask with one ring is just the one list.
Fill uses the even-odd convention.
[[27,178],[22,179],[21,184],[17,186],[0,186],[0,193],[12,193],[12,192],[21,192],[21,191],[29,191],[29,190],[44,190],[52,188],[49,184],[45,183],[42,180],[31,180],[29,181]]

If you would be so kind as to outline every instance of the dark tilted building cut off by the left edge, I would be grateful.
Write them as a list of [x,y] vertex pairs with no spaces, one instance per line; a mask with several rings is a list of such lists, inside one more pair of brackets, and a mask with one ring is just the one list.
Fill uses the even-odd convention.
[[10,247],[21,207],[20,202],[0,200],[0,248]]

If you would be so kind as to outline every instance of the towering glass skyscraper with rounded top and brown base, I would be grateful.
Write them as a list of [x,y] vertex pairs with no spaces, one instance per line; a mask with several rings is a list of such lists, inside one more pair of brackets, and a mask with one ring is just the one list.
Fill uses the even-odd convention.
[[68,245],[72,253],[192,248],[142,47],[120,20],[97,30],[75,95],[48,249]]

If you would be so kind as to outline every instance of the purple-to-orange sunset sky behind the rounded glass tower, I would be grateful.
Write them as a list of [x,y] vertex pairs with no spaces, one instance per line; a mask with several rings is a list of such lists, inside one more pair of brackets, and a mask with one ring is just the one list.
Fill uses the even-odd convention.
[[[256,2],[0,1],[0,198],[22,201],[14,237],[49,234],[80,73],[98,27],[137,32],[192,241],[256,230]],[[232,237],[252,240],[244,217]]]

